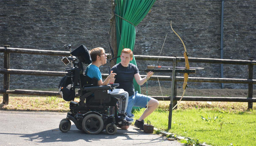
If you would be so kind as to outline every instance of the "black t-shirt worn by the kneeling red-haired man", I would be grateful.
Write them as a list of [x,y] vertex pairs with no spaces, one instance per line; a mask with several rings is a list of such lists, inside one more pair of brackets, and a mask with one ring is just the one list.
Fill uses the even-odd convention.
[[134,74],[139,73],[137,66],[129,63],[128,67],[123,67],[121,63],[118,63],[112,67],[111,71],[116,73],[115,83],[119,84],[117,88],[124,89],[129,96],[134,95],[133,77]]

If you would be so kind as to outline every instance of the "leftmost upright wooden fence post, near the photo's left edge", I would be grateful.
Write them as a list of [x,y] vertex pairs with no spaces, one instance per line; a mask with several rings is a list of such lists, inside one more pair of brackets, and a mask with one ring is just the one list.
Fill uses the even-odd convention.
[[[7,48],[10,48],[10,45],[4,45],[5,52],[4,52],[4,61],[3,61],[3,68],[10,69],[10,53],[7,53]],[[10,74],[5,73],[3,75],[3,89],[9,90],[10,87]],[[9,94],[3,93],[3,104],[9,104]]]

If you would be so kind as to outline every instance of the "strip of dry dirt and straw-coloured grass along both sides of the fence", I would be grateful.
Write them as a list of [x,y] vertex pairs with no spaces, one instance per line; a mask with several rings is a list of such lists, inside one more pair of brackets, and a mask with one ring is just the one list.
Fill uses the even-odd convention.
[[[171,93],[170,88],[162,87],[163,96],[169,96]],[[49,90],[48,90],[49,91]],[[55,91],[55,89],[52,89]],[[177,95],[181,96],[183,89],[177,90]],[[141,93],[146,94],[146,87],[141,87]],[[148,95],[161,96],[160,88],[148,87]],[[186,90],[185,96],[212,96],[212,97],[247,97],[248,90],[243,89],[191,89]],[[254,95],[256,91],[254,90]],[[0,103],[3,98],[0,94]],[[79,102],[79,98],[75,98]],[[159,108],[162,110],[169,109],[170,101],[159,101]],[[212,108],[217,110],[247,110],[247,103],[238,102],[188,102],[182,101],[178,109],[188,108]],[[254,104],[253,109],[256,109]],[[0,110],[14,110],[14,111],[54,111],[54,112],[68,112],[69,102],[64,101],[59,97],[52,96],[29,96],[29,95],[10,95],[9,105],[0,104]]]

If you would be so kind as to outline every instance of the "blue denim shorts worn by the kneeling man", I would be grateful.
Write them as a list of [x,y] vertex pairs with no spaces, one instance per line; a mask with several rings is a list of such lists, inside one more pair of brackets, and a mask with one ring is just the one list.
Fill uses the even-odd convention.
[[126,112],[128,114],[130,114],[133,106],[134,107],[146,108],[147,102],[149,102],[150,99],[152,99],[152,97],[147,96],[147,95],[143,95],[143,94],[139,94],[138,91],[136,91],[134,93],[134,95],[129,96],[128,106],[127,106]]

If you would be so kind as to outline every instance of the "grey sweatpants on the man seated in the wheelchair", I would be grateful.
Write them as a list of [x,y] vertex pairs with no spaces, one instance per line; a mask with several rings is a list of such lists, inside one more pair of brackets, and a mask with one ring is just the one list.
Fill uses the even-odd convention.
[[108,91],[108,93],[118,100],[118,113],[125,114],[128,105],[128,92],[126,92],[124,89],[114,89],[113,91]]

